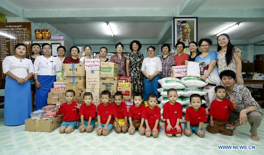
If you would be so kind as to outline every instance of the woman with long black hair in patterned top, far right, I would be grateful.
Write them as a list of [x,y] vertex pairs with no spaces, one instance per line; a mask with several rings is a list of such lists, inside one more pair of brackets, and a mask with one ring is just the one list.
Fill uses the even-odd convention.
[[217,36],[217,69],[218,74],[225,70],[231,70],[236,73],[235,82],[238,85],[243,85],[243,78],[241,75],[241,49],[233,46],[227,34],[223,33]]

